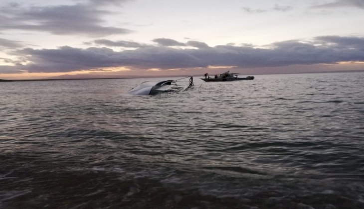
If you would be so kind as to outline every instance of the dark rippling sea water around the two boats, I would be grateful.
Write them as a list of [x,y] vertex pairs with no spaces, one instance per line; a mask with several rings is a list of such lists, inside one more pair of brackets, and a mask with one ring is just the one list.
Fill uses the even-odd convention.
[[363,209],[364,73],[255,77],[0,83],[0,208]]

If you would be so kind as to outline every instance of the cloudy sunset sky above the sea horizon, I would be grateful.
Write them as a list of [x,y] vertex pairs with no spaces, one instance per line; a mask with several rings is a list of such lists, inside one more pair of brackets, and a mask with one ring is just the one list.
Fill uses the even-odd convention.
[[1,0],[0,79],[364,70],[364,0]]

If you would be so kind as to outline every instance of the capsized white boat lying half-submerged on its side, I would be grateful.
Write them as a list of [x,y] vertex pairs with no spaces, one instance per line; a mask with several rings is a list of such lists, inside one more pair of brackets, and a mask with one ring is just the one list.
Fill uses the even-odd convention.
[[[189,78],[189,81],[181,81]],[[128,91],[131,95],[156,95],[164,92],[183,92],[193,86],[193,77],[178,80],[146,81]],[[188,83],[187,85],[185,83]]]

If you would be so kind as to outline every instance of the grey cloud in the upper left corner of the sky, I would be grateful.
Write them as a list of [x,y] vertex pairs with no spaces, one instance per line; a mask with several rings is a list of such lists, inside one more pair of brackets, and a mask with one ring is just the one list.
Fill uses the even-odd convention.
[[45,31],[58,35],[100,37],[132,32],[126,28],[105,26],[103,17],[111,12],[89,4],[0,7],[0,31],[20,29]]

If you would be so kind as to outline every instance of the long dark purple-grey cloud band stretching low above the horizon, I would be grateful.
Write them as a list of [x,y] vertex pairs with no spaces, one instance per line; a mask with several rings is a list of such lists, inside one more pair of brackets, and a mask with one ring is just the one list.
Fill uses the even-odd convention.
[[203,42],[188,41],[185,45],[196,48],[150,45],[135,50],[113,51],[105,47],[81,49],[63,46],[58,49],[26,48],[15,53],[32,63],[16,68],[28,72],[70,72],[120,66],[140,70],[208,66],[255,68],[364,61],[363,43],[364,38],[360,37],[320,36],[311,42],[277,42],[268,49],[232,45],[209,47]]

